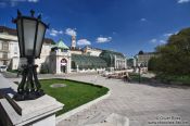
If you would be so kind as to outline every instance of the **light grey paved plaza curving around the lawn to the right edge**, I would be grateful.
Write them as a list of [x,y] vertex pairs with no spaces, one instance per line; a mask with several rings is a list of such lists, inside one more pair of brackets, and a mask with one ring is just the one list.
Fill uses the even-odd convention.
[[97,75],[67,78],[103,85],[112,92],[107,99],[63,119],[58,126],[101,123],[112,113],[128,117],[130,126],[190,126],[190,88],[128,84]]

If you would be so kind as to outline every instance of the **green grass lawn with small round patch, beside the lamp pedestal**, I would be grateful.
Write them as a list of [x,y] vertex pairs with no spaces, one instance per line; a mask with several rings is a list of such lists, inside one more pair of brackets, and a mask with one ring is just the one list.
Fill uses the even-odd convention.
[[[43,79],[40,83],[47,94],[64,104],[63,110],[59,111],[56,115],[94,100],[109,91],[107,88],[102,86],[67,79]],[[52,84],[65,84],[66,87],[51,88]]]

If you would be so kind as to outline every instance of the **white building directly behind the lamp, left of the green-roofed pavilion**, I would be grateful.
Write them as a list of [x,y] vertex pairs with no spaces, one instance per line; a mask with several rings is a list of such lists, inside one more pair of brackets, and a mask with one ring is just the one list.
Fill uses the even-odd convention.
[[[53,40],[47,38],[43,41],[40,59],[35,60],[35,63],[38,64],[38,72],[41,64],[47,62],[50,55],[52,42]],[[0,26],[0,65],[7,65],[10,70],[17,70],[25,63],[26,59],[20,59],[16,30]]]

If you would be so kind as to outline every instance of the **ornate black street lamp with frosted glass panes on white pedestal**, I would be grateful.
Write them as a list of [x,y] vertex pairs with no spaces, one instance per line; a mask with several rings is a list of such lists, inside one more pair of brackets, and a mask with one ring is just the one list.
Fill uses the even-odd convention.
[[17,93],[13,97],[16,101],[33,100],[45,94],[40,89],[41,86],[36,72],[38,66],[34,64],[34,61],[40,58],[48,25],[41,21],[41,15],[35,17],[33,10],[30,13],[31,16],[24,16],[17,11],[17,17],[13,18],[17,29],[21,58],[27,59],[27,64],[23,65],[23,78],[18,85]]

